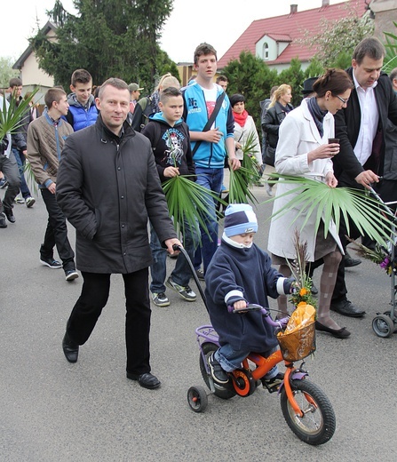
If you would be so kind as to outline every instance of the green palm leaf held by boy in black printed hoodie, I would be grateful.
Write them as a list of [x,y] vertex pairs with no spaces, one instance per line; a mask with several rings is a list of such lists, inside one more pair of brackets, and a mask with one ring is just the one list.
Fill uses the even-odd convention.
[[[226,205],[219,195],[189,179],[189,175],[178,175],[163,183],[163,191],[168,204],[170,216],[178,234],[185,235],[184,220],[200,238],[200,226],[210,236],[207,227],[208,202],[218,201]],[[217,212],[218,213],[218,212]],[[218,216],[220,217],[220,214]]]

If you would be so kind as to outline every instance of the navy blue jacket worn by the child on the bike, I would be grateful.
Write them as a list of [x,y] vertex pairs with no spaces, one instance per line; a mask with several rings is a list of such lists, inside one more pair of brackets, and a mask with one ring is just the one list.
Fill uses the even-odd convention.
[[[257,353],[277,346],[274,327],[266,323],[259,311],[233,314],[226,307],[226,299],[245,299],[268,307],[267,296],[276,299],[279,295],[277,281],[279,278],[285,280],[271,265],[269,255],[257,245],[237,249],[222,239],[205,273],[207,307],[220,345],[228,343],[235,350]],[[242,297],[233,297],[237,292],[242,293]]]

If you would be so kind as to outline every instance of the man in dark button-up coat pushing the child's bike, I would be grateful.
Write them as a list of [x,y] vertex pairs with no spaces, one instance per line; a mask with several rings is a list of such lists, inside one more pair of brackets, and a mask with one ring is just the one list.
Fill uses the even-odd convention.
[[83,289],[67,321],[63,351],[76,362],[78,347],[91,335],[107,304],[110,275],[123,275],[126,297],[127,378],[157,388],[150,373],[150,302],[147,235],[150,219],[161,243],[178,244],[149,140],[124,123],[130,108],[128,85],[108,79],[96,100],[94,125],[67,138],[62,152],[57,200],[76,229],[76,262]]

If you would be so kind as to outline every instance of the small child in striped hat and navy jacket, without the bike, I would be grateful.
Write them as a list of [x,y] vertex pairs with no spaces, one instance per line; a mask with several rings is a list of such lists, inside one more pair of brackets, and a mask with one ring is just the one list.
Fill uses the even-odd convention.
[[[268,296],[276,299],[293,287],[294,280],[278,273],[266,251],[253,243],[257,231],[258,220],[250,205],[228,205],[222,241],[205,274],[210,321],[221,345],[210,356],[210,373],[222,385],[230,379],[227,372],[240,368],[251,351],[267,357],[278,347],[274,327],[259,311],[244,310],[247,302],[268,307]],[[228,306],[242,315],[231,314]],[[267,387],[277,387],[282,378],[275,365],[262,381]]]

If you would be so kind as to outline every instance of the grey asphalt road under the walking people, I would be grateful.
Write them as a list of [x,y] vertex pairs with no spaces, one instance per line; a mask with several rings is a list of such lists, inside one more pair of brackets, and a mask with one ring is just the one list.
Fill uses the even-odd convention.
[[[254,193],[256,242],[266,248],[271,206],[263,204],[264,189]],[[120,275],[113,276],[107,307],[79,361],[69,364],[61,340],[82,278],[67,283],[61,269],[40,265],[46,211],[39,195],[32,209],[15,205],[14,213],[17,222],[0,229],[1,461],[397,459],[397,336],[380,339],[371,328],[377,311],[389,309],[391,282],[375,264],[363,261],[346,275],[349,298],[367,316],[335,315],[351,338],[319,332],[314,360],[306,362],[337,416],[330,442],[312,447],[292,434],[279,398],[262,389],[229,401],[210,395],[205,412],[189,409],[187,389],[204,386],[195,340],[195,328],[209,322],[201,299],[188,303],[168,291],[171,307],[153,307],[151,361],[163,382],[157,390],[125,378]],[[69,237],[74,243],[71,227]]]

